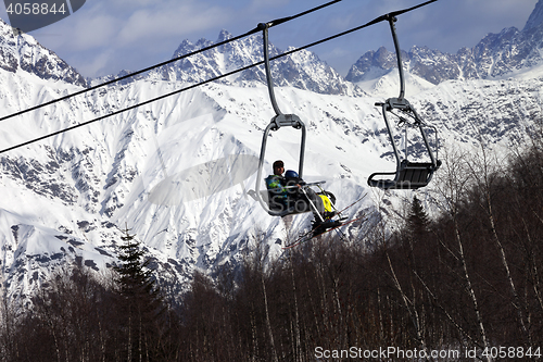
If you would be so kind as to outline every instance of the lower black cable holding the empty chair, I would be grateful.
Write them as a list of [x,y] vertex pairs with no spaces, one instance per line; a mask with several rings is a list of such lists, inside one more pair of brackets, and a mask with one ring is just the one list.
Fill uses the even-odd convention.
[[[337,0],[338,1],[338,0]],[[339,0],[341,1],[341,0]],[[283,52],[281,54],[278,54],[278,55],[275,55],[273,58],[270,58],[269,60],[277,60],[277,59],[280,59],[280,58],[283,58],[283,57],[287,57],[287,55],[290,55],[290,54],[293,54],[295,52],[299,52],[301,50],[305,50],[307,48],[312,48],[312,47],[315,47],[317,45],[320,45],[320,43],[324,43],[324,42],[327,42],[327,41],[330,41],[330,40],[333,40],[336,38],[339,38],[339,37],[342,37],[342,36],[345,36],[348,34],[351,34],[351,33],[354,33],[354,32],[357,32],[357,30],[361,30],[363,28],[366,28],[368,26],[371,26],[371,25],[375,25],[377,23],[380,23],[380,22],[383,22],[383,21],[388,21],[389,20],[389,16],[391,16],[391,14],[403,14],[405,12],[408,12],[408,11],[412,11],[412,10],[415,10],[415,9],[418,9],[420,7],[424,7],[428,3],[431,3],[431,2],[434,2],[434,1],[438,1],[438,0],[430,0],[430,1],[427,1],[422,4],[419,4],[419,5],[416,5],[416,7],[413,7],[413,8],[409,8],[409,9],[405,9],[405,10],[401,10],[401,11],[396,11],[396,12],[393,12],[393,13],[389,13],[389,14],[386,14],[386,15],[381,15],[379,17],[376,17],[375,20],[364,24],[364,25],[361,25],[361,26],[357,26],[357,27],[354,27],[354,28],[351,28],[349,30],[345,30],[345,32],[342,32],[342,33],[339,33],[337,35],[333,35],[333,36],[330,36],[328,38],[324,38],[321,40],[317,40],[317,41],[314,41],[312,43],[308,43],[306,46],[303,46],[303,47],[300,47],[300,48],[296,48],[296,49],[293,49],[293,50],[290,50],[290,51],[287,51],[287,52]],[[282,20],[280,20],[282,21]],[[258,29],[258,27],[256,27],[256,29]],[[167,98],[167,97],[171,97],[171,96],[174,96],[176,93],[180,93],[182,91],[187,91],[187,90],[190,90],[190,89],[193,89],[193,88],[197,88],[197,87],[200,87],[200,86],[203,86],[205,84],[209,84],[209,83],[212,83],[212,82],[215,82],[215,80],[218,80],[218,79],[222,79],[224,77],[228,77],[230,75],[233,75],[233,74],[237,74],[237,73],[240,73],[240,72],[243,72],[243,71],[247,71],[249,68],[252,68],[254,66],[258,66],[258,65],[262,65],[264,64],[264,61],[260,61],[260,62],[256,62],[256,63],[253,63],[253,64],[250,64],[250,65],[247,65],[244,67],[241,67],[241,68],[238,68],[236,71],[231,71],[229,73],[225,73],[223,75],[219,75],[219,76],[216,76],[216,77],[213,77],[213,78],[210,78],[207,80],[204,80],[204,82],[201,82],[201,83],[198,83],[198,84],[193,84],[193,85],[190,85],[188,87],[185,87],[185,88],[180,88],[180,89],[177,89],[177,90],[174,90],[174,91],[171,91],[168,93],[165,93],[165,95],[162,95],[162,96],[159,96],[159,97],[155,97],[155,98],[152,98],[152,99],[149,99],[147,101],[143,101],[143,102],[140,102],[140,103],[137,103],[137,104],[134,104],[134,105],[130,105],[128,108],[125,108],[125,109],[122,109],[122,110],[118,110],[118,111],[115,111],[115,112],[112,112],[112,113],[109,113],[109,114],[105,114],[105,115],[102,115],[102,116],[99,116],[97,118],[93,118],[93,120],[90,120],[90,121],[87,121],[87,122],[84,122],[84,123],[79,123],[79,124],[76,124],[72,127],[67,127],[67,128],[63,128],[61,130],[56,130],[54,133],[51,133],[51,134],[48,134],[48,135],[45,135],[45,136],[41,136],[41,137],[38,137],[38,138],[35,138],[35,139],[31,139],[29,141],[26,141],[26,142],[23,142],[23,143],[18,143],[18,145],[15,145],[15,146],[12,146],[12,147],[9,147],[9,148],[5,148],[3,150],[0,150],[0,154],[1,153],[5,153],[5,152],[9,152],[9,151],[12,151],[14,149],[17,149],[17,148],[21,148],[21,147],[25,147],[25,146],[28,146],[28,145],[31,145],[31,143],[35,143],[35,142],[38,142],[40,140],[43,140],[46,138],[50,138],[50,137],[53,137],[53,136],[58,136],[60,134],[63,134],[65,132],[68,132],[68,130],[73,130],[73,129],[76,129],[76,128],[79,128],[79,127],[83,127],[83,126],[86,126],[86,125],[89,125],[91,123],[94,123],[94,122],[98,122],[98,121],[101,121],[101,120],[104,120],[104,118],[108,118],[110,116],[113,116],[113,115],[117,115],[117,114],[121,114],[121,113],[124,113],[126,111],[130,111],[130,110],[134,110],[136,108],[139,108],[141,105],[146,105],[146,104],[149,104],[149,103],[152,103],[152,102],[155,102],[155,101],[159,101],[161,99],[164,99],[164,98]],[[28,111],[28,110],[27,110]],[[25,111],[25,112],[27,112]],[[0,118],[0,121],[2,121],[3,118]]]

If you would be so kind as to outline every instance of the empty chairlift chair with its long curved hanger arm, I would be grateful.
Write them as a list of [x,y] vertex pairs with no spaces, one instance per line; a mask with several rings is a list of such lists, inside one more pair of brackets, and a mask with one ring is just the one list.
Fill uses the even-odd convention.
[[[400,74],[400,96],[397,98],[389,98],[384,102],[376,103],[377,107],[382,108],[382,114],[384,123],[387,125],[387,130],[390,136],[390,141],[394,151],[394,157],[396,159],[396,171],[395,172],[377,172],[372,173],[368,177],[368,185],[371,187],[378,187],[381,189],[418,189],[420,187],[427,186],[433,177],[433,173],[440,167],[441,161],[437,159],[428,141],[428,136],[425,132],[425,127],[433,128],[435,132],[435,147],[438,147],[438,136],[437,129],[433,126],[429,126],[422,122],[413,105],[404,98],[405,96],[405,78],[404,71],[402,66],[402,53],[400,49],[400,42],[397,40],[395,22],[396,17],[392,14],[384,15],[386,20],[389,22],[390,29],[392,32],[392,39],[394,41],[394,48],[396,51],[397,59],[397,70]],[[392,130],[388,113],[393,113],[394,110],[403,112],[406,116],[414,120],[414,127],[420,130],[424,143],[428,151],[430,162],[409,162],[407,160],[407,137],[405,139],[406,154],[402,159],[397,150],[396,142],[394,141],[394,133]],[[393,113],[394,114],[394,113]],[[406,122],[406,118],[400,116],[401,123]],[[387,176],[394,175],[393,179],[378,178],[376,176]]]

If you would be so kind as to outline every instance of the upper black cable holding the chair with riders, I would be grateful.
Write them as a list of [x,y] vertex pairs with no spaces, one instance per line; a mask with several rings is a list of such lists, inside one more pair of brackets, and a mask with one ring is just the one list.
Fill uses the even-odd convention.
[[[301,17],[303,15],[307,15],[310,13],[313,13],[317,10],[320,10],[320,9],[324,9],[324,8],[327,8],[329,5],[332,5],[337,2],[340,2],[340,1],[343,1],[343,0],[333,0],[333,1],[330,1],[330,2],[327,2],[323,5],[319,5],[319,7],[316,7],[316,8],[313,8],[313,9],[310,9],[310,10],[306,10],[304,12],[301,12],[299,14],[295,14],[295,15],[292,15],[292,16],[288,16],[288,17],[282,17],[282,18],[278,18],[278,20],[275,20],[275,21],[272,21],[267,24],[269,24],[269,26],[276,26],[276,25],[279,25],[279,24],[282,24],[282,23],[286,23],[286,22],[290,22],[294,18],[298,18],[298,17]],[[149,71],[152,71],[156,67],[160,67],[160,66],[163,66],[163,65],[166,65],[166,64],[169,64],[169,63],[173,63],[173,62],[176,62],[176,61],[179,61],[179,60],[182,60],[185,58],[189,58],[189,57],[192,57],[192,55],[195,55],[195,54],[199,54],[201,52],[204,52],[204,51],[207,51],[207,50],[211,50],[211,49],[214,49],[214,48],[217,48],[217,47],[220,47],[220,46],[224,46],[226,43],[229,43],[229,42],[232,42],[232,41],[236,41],[236,40],[239,40],[241,38],[244,38],[244,37],[248,37],[250,35],[253,35],[255,33],[258,33],[261,29],[258,27],[255,27],[254,29],[245,33],[245,34],[242,34],[242,35],[239,35],[239,36],[236,36],[233,38],[230,38],[230,39],[226,39],[224,41],[220,41],[220,42],[217,42],[217,43],[214,43],[212,46],[209,46],[209,47],[205,47],[205,48],[202,48],[202,49],[199,49],[199,50],[195,50],[193,52],[190,52],[188,54],[184,54],[184,55],[180,55],[180,57],[177,57],[177,58],[174,58],[174,59],[171,59],[171,60],[167,60],[165,62],[162,62],[162,63],[159,63],[159,64],[155,64],[155,65],[151,65],[151,66],[148,66],[143,70],[140,70],[140,71],[137,71],[137,72],[132,72],[130,74],[127,74],[127,75],[124,75],[122,77],[118,77],[116,79],[112,79],[112,80],[109,80],[109,82],[105,82],[105,83],[102,83],[102,84],[99,84],[99,85],[96,85],[96,86],[92,86],[92,87],[89,87],[89,88],[85,88],[83,90],[79,90],[79,91],[76,91],[74,93],[71,93],[71,95],[66,95],[64,97],[61,97],[61,98],[56,98],[56,99],[53,99],[51,101],[48,101],[48,102],[45,102],[45,103],[41,103],[41,104],[38,104],[38,105],[34,105],[31,108],[28,108],[26,110],[22,110],[22,111],[18,111],[18,112],[15,112],[15,113],[12,113],[12,114],[9,114],[9,115],[5,115],[5,116],[2,116],[0,117],[0,122],[2,121],[5,121],[5,120],[9,120],[9,118],[12,118],[14,116],[17,116],[17,115],[22,115],[24,113],[27,113],[27,112],[30,112],[30,111],[35,111],[35,110],[38,110],[42,107],[46,107],[46,105],[51,105],[51,104],[54,104],[56,102],[60,102],[60,101],[63,101],[63,100],[66,100],[66,99],[70,99],[72,97],[75,97],[75,96],[80,96],[83,93],[86,93],[88,91],[91,91],[91,90],[96,90],[98,88],[101,88],[101,87],[104,87],[104,86],[109,86],[109,85],[112,85],[114,83],[117,83],[117,82],[121,82],[121,80],[124,80],[124,79],[127,79],[127,78],[130,78],[130,77],[134,77],[136,75],[139,75],[139,74],[142,74],[142,73],[146,73],[146,72],[149,72]]]

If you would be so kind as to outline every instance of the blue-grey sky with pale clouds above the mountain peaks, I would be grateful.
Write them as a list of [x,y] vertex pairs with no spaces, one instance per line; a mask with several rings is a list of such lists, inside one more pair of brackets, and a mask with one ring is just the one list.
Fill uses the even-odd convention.
[[[298,14],[329,0],[87,0],[71,16],[30,32],[86,77],[140,70],[172,58],[184,39],[215,41],[220,29],[233,36],[256,24]],[[342,0],[270,29],[270,41],[286,49],[363,25],[425,0]],[[542,0],[543,1],[543,0]],[[439,0],[401,15],[402,49],[428,46],[455,53],[489,33],[522,29],[538,0]],[[5,8],[0,17],[9,23]],[[387,23],[358,30],[310,50],[346,75],[368,50],[393,49]]]

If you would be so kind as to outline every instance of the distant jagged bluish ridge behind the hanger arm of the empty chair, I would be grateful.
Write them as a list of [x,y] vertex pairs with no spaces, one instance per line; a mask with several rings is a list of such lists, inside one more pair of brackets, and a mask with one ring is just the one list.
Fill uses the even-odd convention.
[[[539,1],[522,30],[515,27],[487,35],[476,47],[456,54],[427,47],[402,52],[406,68],[415,75],[440,84],[444,80],[495,79],[530,68],[542,62],[543,2]],[[358,83],[397,67],[395,53],[384,48],[365,53],[351,67],[345,79]]]

